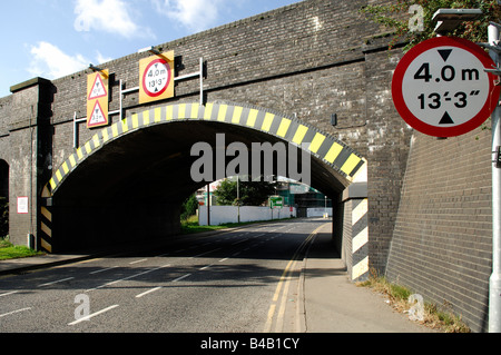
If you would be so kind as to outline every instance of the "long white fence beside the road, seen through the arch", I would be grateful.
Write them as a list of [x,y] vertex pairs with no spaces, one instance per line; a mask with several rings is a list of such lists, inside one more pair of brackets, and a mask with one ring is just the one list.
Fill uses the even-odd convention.
[[[279,218],[296,217],[293,207],[269,208],[259,206],[242,206],[239,208],[240,221],[271,220]],[[210,225],[218,226],[225,223],[238,223],[238,207],[236,206],[210,206]],[[207,226],[207,206],[198,206],[198,224]]]

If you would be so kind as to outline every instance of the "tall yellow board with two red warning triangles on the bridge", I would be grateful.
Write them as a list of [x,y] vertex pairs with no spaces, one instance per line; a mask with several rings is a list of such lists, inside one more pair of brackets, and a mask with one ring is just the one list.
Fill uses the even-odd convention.
[[87,76],[87,128],[108,125],[108,70]]

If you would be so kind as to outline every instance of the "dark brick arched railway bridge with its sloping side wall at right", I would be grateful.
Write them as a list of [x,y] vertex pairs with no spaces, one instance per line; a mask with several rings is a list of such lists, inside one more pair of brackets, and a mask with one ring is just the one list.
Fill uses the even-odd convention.
[[100,63],[105,127],[82,120],[91,68],[11,87],[0,98],[11,240],[59,253],[173,235],[205,184],[189,177],[195,142],[310,144],[311,185],[333,200],[351,278],[384,274],[485,331],[490,134],[438,140],[405,125],[391,97],[402,50],[360,12],[373,2],[308,0],[155,46],[175,51],[166,100],[139,103],[134,90],[151,53]]

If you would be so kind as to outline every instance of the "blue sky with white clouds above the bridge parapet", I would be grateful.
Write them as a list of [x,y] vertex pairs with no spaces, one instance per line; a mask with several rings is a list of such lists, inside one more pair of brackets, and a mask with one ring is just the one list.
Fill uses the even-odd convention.
[[299,0],[9,0],[0,8],[0,97]]

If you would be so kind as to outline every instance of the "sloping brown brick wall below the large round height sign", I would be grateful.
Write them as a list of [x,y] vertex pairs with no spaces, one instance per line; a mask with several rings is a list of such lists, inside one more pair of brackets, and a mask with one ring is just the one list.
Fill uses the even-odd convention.
[[490,130],[436,139],[416,132],[386,275],[488,329],[492,257]]

